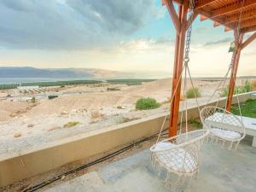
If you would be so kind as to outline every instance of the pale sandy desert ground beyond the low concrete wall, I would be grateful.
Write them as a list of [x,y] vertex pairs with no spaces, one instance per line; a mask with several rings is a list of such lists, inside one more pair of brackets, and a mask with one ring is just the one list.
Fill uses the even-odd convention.
[[[60,92],[72,93],[79,90],[80,94],[59,96],[52,100],[44,98],[36,103],[2,100],[0,101],[0,158],[11,152],[20,153],[26,148],[44,145],[82,132],[163,113],[169,108],[169,103],[145,111],[136,111],[135,103],[138,98],[145,96],[154,97],[158,102],[166,102],[172,91],[171,82],[171,79],[160,79],[132,86],[79,85]],[[201,80],[195,80],[194,83],[195,87],[201,90],[199,99],[201,103],[207,102],[219,84],[218,81]],[[120,90],[107,91],[107,87],[118,87]],[[15,92],[15,90],[9,91]],[[194,99],[189,100],[189,106],[191,105],[195,105]],[[78,125],[65,128],[64,125],[68,122],[77,122]]]

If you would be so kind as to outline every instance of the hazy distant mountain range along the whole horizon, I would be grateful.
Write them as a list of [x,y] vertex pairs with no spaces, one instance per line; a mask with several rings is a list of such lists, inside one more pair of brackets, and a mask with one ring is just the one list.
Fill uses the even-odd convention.
[[[0,67],[0,82],[4,79],[163,79],[170,78],[171,71],[119,72],[97,68],[34,68]],[[194,79],[219,79],[214,76],[193,76]],[[221,77],[222,78],[222,77]],[[255,76],[240,76],[255,79]]]

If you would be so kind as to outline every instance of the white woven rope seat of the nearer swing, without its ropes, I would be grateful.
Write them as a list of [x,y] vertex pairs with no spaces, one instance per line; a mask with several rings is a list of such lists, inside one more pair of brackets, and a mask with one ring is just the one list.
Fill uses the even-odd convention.
[[198,130],[167,138],[154,144],[150,150],[153,166],[159,166],[179,176],[193,175],[198,172],[199,149],[209,131]]

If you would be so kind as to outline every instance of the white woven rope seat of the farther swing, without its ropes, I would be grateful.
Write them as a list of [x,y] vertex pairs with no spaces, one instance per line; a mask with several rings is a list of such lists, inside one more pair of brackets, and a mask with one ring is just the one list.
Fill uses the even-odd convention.
[[224,108],[202,108],[200,117],[203,127],[210,131],[209,137],[216,142],[230,143],[230,149],[233,143],[236,143],[236,149],[241,139],[246,136],[241,119]]

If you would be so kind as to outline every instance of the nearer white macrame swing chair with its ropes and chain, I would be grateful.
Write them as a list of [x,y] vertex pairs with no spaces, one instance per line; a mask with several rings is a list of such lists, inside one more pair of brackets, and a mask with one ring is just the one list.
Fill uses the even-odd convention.
[[[191,7],[190,7],[191,8]],[[193,16],[193,9],[190,9],[189,18],[191,19]],[[187,32],[187,41],[186,41],[186,51],[184,57],[184,65],[182,69],[182,73],[178,78],[178,83],[180,82],[182,75],[184,73],[184,81],[183,81],[183,95],[187,88],[187,73],[189,73],[189,79],[194,88],[194,84],[192,82],[190,72],[189,72],[189,43],[190,43],[190,34],[191,34],[191,23],[192,20],[189,19],[189,28]],[[184,70],[185,69],[185,70]],[[195,89],[194,94],[195,94]],[[174,92],[172,94],[171,103],[174,98],[174,95],[177,91],[177,87],[175,87]],[[160,141],[160,137],[166,123],[166,118],[161,126],[160,133],[157,139],[157,142],[150,148],[151,151],[151,162],[156,170],[166,170],[166,183],[170,183],[170,173],[177,174],[177,182],[172,182],[172,185],[177,185],[179,182],[183,181],[185,177],[192,177],[196,175],[199,171],[199,153],[201,144],[204,139],[209,134],[209,130],[202,129],[196,131],[188,131],[188,108],[187,108],[187,100],[183,101],[183,105],[185,104],[185,114],[180,116],[180,128],[179,134],[175,137],[169,137],[162,141]],[[198,104],[198,102],[197,102]],[[198,106],[199,109],[199,106]],[[168,114],[166,114],[167,117]],[[185,119],[183,120],[183,116]],[[185,132],[182,133],[183,130],[183,122],[185,122]],[[170,183],[171,184],[171,183]]]

